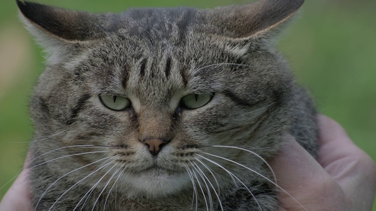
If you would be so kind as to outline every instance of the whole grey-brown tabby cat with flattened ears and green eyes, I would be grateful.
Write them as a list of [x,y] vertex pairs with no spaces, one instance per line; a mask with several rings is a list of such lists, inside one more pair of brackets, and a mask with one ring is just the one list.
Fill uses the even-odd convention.
[[304,0],[121,14],[17,0],[47,53],[30,99],[41,211],[278,208],[288,134],[317,153],[314,103],[273,40]]

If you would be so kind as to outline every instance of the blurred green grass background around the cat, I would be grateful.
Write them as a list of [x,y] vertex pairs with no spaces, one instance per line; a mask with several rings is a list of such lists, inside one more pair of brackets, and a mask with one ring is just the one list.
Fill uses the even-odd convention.
[[[89,12],[120,12],[129,7],[194,6],[212,8],[247,3],[244,0],[38,0],[39,3]],[[353,141],[376,160],[376,3],[361,1],[306,1],[300,18],[286,30],[279,48],[290,60],[300,83],[316,98],[319,110],[346,129]],[[22,167],[32,140],[28,99],[43,70],[41,49],[33,44],[17,20],[15,1],[0,7],[0,32],[10,29],[24,39],[29,59],[17,62],[16,75],[0,92],[0,187]],[[21,29],[21,30],[19,30]],[[13,30],[14,31],[14,30]],[[5,36],[6,37],[6,36]],[[9,37],[9,36],[8,36]],[[17,36],[18,38],[18,36]],[[1,40],[8,42],[8,40]],[[21,42],[23,43],[23,42]],[[27,45],[27,46],[26,46]],[[2,45],[0,45],[1,47]],[[1,49],[0,51],[5,51]],[[3,55],[3,54],[0,54]],[[0,58],[1,59],[1,58]],[[0,69],[0,73],[6,71]],[[1,75],[1,74],[0,74]],[[11,182],[0,189],[0,198]],[[359,190],[361,191],[361,190]],[[376,211],[376,205],[374,206]]]

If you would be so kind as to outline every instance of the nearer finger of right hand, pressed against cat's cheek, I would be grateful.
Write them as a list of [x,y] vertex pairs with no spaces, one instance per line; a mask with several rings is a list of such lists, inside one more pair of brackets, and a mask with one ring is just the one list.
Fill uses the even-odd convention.
[[292,196],[279,191],[279,202],[284,209],[345,210],[341,207],[344,204],[337,203],[344,201],[340,186],[293,137],[287,139],[273,158],[271,167],[278,185]]

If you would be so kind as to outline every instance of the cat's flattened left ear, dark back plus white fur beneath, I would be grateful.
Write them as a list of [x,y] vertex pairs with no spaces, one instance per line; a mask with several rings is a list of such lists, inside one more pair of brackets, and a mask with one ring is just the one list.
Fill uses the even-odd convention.
[[16,0],[26,29],[52,57],[70,53],[77,43],[117,30],[116,14],[91,14]]

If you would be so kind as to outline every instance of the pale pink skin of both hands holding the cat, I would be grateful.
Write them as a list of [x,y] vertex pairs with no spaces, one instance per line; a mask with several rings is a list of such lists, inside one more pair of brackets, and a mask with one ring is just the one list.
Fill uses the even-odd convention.
[[[374,161],[350,140],[337,122],[323,115],[317,118],[320,127],[317,160],[289,136],[270,161],[278,185],[284,190],[278,192],[280,210],[371,210],[376,192]],[[1,211],[34,211],[27,173],[23,170],[5,194]]]

